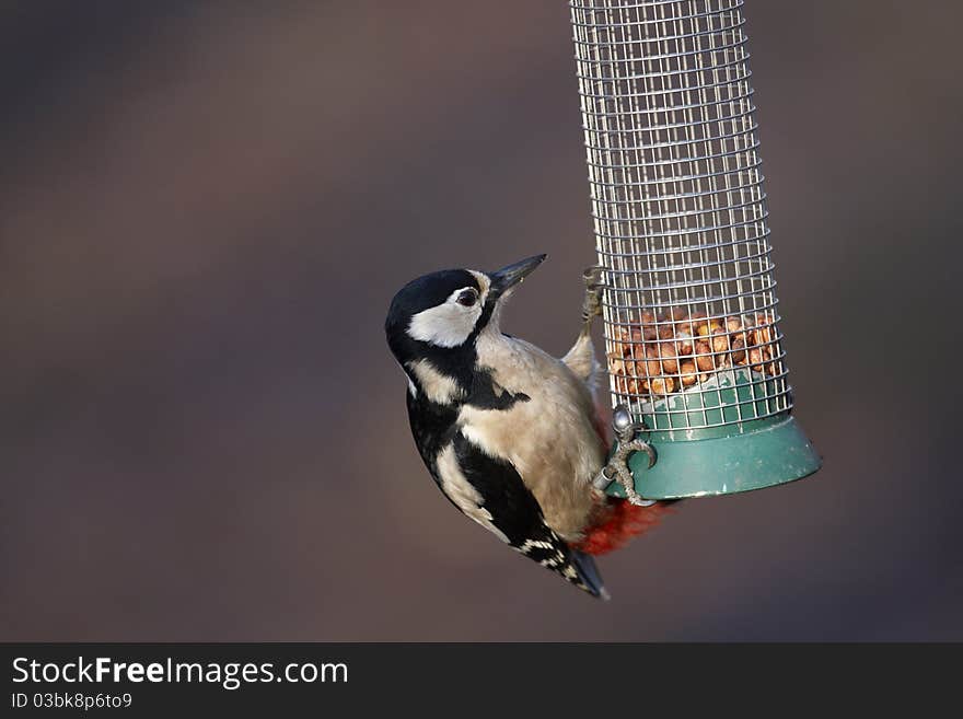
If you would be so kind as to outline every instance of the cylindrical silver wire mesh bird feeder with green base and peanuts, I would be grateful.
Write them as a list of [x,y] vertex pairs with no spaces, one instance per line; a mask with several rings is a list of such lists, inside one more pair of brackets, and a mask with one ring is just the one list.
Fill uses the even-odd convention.
[[[613,407],[669,499],[804,477],[742,0],[572,0]],[[623,495],[618,483],[608,491]]]

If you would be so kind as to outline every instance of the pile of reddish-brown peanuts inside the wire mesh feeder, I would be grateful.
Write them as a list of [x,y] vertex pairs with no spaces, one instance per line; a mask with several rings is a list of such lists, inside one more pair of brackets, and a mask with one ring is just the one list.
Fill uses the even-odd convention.
[[648,310],[639,322],[619,325],[608,371],[622,394],[664,396],[705,382],[717,370],[749,367],[773,376],[776,332],[774,317],[731,315],[674,308],[655,320]]

